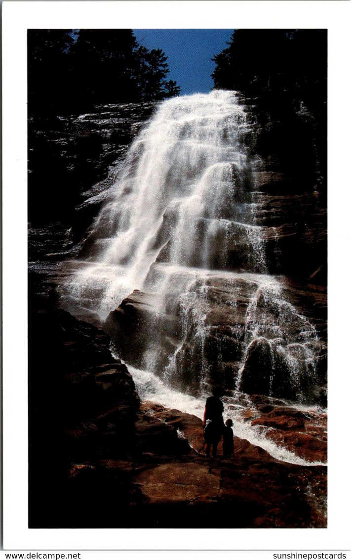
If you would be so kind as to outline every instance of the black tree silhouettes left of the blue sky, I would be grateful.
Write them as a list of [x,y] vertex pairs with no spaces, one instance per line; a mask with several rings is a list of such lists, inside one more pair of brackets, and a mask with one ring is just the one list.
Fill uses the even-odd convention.
[[162,49],[148,50],[129,29],[29,30],[30,114],[179,95]]

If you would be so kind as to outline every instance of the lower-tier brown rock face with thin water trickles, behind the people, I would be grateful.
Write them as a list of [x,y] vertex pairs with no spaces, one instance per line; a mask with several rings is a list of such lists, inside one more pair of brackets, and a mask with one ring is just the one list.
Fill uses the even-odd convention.
[[289,278],[279,282],[240,274],[208,278],[173,306],[173,322],[155,295],[135,291],[111,312],[105,329],[127,362],[148,369],[153,352],[154,371],[167,368],[168,380],[193,394],[204,383],[220,384],[325,404],[325,291],[313,284],[302,290]]

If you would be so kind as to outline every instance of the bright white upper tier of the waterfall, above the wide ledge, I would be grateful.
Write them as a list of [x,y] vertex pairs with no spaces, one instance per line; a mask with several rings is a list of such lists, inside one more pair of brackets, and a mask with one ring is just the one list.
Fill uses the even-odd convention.
[[156,260],[226,268],[229,246],[239,248],[241,231],[243,259],[250,262],[258,234],[248,227],[249,166],[240,142],[240,130],[247,127],[231,92],[179,97],[160,106],[132,144],[94,223],[91,264],[70,285],[79,306],[106,317],[144,286]]

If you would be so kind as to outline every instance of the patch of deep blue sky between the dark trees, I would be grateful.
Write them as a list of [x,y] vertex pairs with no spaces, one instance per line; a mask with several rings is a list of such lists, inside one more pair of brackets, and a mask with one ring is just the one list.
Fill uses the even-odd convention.
[[169,80],[181,94],[207,93],[213,87],[211,58],[226,48],[233,29],[134,29],[139,43],[162,49],[168,57]]

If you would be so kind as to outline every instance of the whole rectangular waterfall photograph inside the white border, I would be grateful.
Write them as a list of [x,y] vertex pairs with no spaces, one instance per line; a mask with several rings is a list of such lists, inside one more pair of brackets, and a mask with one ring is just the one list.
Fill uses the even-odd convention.
[[228,25],[27,29],[29,529],[328,527],[329,31]]

